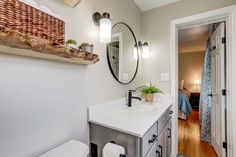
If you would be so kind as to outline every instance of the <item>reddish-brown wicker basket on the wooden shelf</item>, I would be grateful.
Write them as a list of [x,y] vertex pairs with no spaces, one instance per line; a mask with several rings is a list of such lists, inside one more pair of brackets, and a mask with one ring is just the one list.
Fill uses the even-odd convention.
[[0,0],[0,30],[38,37],[54,44],[64,44],[64,21],[19,0]]

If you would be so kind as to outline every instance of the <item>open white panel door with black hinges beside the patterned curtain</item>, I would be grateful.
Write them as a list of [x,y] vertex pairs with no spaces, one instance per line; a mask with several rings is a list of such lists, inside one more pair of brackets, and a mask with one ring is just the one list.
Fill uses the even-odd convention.
[[226,156],[223,142],[226,140],[225,97],[225,23],[222,22],[211,36],[212,61],[212,111],[211,143],[219,157]]

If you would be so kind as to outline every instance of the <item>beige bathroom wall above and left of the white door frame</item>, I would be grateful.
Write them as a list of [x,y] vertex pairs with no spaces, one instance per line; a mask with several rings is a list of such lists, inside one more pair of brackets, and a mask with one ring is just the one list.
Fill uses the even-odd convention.
[[170,81],[161,82],[161,73],[170,73],[170,22],[209,10],[236,4],[235,0],[181,0],[143,14],[143,40],[150,45],[151,57],[143,62],[143,80],[156,83],[170,93]]

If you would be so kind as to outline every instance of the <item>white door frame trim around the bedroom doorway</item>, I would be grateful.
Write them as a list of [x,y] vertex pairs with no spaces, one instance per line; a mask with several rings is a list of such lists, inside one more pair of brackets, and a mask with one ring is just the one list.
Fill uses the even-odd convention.
[[[226,23],[226,34],[229,34],[226,38],[226,102],[227,102],[227,128],[226,129],[226,141],[224,145],[227,146],[227,156],[234,157],[236,155],[234,143],[234,112],[235,108],[233,106],[236,103],[234,97],[236,97],[236,83],[233,80],[236,79],[236,71],[233,70],[233,67],[236,66],[236,63],[233,61],[234,53],[233,50],[236,48],[234,43],[236,43],[236,29],[235,23],[236,20],[236,6],[230,6],[226,8],[221,8],[213,10],[210,12],[174,20],[171,22],[171,95],[173,98],[173,130],[176,132],[173,134],[172,144],[175,146],[172,151],[172,156],[175,157],[178,154],[178,30],[183,28],[189,28],[193,26],[200,26],[212,23],[218,23],[225,21]],[[229,92],[230,91],[230,92]]]

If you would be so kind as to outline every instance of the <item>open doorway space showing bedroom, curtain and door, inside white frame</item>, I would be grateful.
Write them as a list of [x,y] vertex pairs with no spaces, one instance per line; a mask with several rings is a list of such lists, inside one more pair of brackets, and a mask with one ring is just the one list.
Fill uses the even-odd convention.
[[178,30],[178,152],[225,157],[225,23]]

